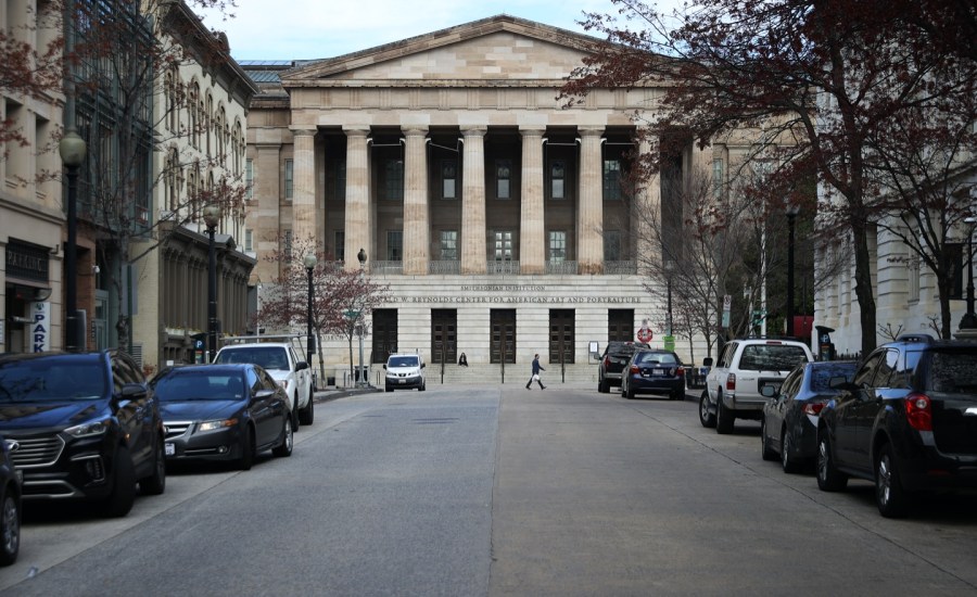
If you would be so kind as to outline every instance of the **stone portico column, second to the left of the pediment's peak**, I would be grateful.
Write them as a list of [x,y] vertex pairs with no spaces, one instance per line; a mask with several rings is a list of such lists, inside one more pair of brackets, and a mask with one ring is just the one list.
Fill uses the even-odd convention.
[[402,127],[407,137],[404,158],[404,274],[428,272],[431,228],[428,216],[427,127]]

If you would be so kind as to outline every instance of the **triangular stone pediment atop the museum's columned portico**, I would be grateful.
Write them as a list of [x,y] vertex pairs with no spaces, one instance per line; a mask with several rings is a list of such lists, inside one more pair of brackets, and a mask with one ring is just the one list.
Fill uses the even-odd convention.
[[283,74],[282,84],[288,88],[351,80],[551,81],[580,66],[597,42],[558,27],[499,15],[309,63]]

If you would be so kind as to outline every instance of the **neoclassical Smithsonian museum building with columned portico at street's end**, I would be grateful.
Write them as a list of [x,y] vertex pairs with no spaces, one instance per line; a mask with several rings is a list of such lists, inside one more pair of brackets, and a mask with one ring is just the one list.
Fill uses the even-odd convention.
[[[594,41],[499,15],[325,60],[241,61],[261,89],[244,231],[257,301],[280,267],[262,256],[314,239],[347,269],[363,249],[366,275],[390,285],[366,361],[419,352],[431,383],[458,379],[461,353],[473,380],[524,383],[538,353],[551,381],[596,381],[595,344],[646,321],[662,346],[665,292],[640,271],[656,249],[632,229],[621,176],[640,149],[632,115],[662,90],[564,109],[558,90]],[[728,152],[689,144],[676,160],[722,176]],[[669,196],[656,178],[639,201]],[[686,359],[687,344],[675,345]],[[341,383],[346,341],[323,356]]]

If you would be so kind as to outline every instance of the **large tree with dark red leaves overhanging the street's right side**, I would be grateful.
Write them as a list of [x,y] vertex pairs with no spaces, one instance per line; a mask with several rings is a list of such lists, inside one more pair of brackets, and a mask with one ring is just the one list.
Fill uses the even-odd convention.
[[[621,26],[612,15],[587,15],[584,26],[606,35],[607,43],[563,87],[568,103],[594,89],[661,86],[655,110],[636,115],[654,142],[642,161],[650,170],[660,167],[655,143],[675,131],[707,147],[756,129],[761,135],[754,155],[774,153],[779,164],[771,189],[816,176],[822,225],[833,231],[840,226],[851,239],[861,348],[871,351],[877,320],[870,244],[876,225],[891,221],[896,205],[924,217],[953,198],[962,205],[959,188],[946,188],[934,200],[896,185],[909,189],[900,178],[909,167],[902,160],[942,151],[947,137],[955,134],[960,147],[974,147],[974,3],[699,0],[670,15],[642,2],[614,3],[642,28]],[[957,43],[934,43],[937,36]],[[937,123],[939,130],[921,124],[893,138],[908,122]],[[946,123],[969,124],[969,132],[966,126],[940,128]],[[913,151],[899,149],[905,141]],[[944,164],[960,167],[962,158],[957,152]],[[784,195],[770,199],[779,203],[770,205],[771,213],[783,208]],[[949,217],[938,215],[936,228],[957,227],[970,213],[969,202],[963,203]]]

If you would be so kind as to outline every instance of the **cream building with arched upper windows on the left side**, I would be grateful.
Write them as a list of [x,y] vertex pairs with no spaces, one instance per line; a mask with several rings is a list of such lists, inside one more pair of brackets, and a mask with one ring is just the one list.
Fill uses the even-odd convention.
[[157,2],[155,36],[168,67],[153,86],[157,151],[151,226],[135,243],[134,348],[147,372],[202,361],[207,331],[210,233],[214,227],[217,319],[221,334],[244,333],[249,278],[255,259],[240,245],[244,228],[248,105],[255,85],[181,0]]

